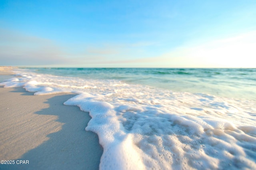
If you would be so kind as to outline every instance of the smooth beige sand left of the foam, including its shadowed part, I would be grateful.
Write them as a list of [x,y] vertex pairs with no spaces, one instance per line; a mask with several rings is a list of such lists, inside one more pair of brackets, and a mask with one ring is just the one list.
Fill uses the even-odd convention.
[[[12,76],[0,72],[0,80]],[[0,86],[0,160],[15,162],[0,169],[98,169],[103,149],[98,136],[85,131],[90,115],[63,105],[73,96],[34,96]]]

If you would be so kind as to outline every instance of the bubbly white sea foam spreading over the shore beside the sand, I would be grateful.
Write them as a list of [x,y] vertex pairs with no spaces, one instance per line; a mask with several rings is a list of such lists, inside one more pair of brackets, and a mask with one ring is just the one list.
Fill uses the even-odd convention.
[[77,94],[64,104],[90,113],[86,130],[104,148],[100,169],[256,169],[254,100],[14,71],[0,85]]

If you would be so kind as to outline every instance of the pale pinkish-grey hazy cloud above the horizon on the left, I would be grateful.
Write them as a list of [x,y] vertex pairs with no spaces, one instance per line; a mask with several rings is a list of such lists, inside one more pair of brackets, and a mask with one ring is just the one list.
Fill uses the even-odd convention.
[[65,48],[50,39],[1,29],[0,60],[2,65],[16,66],[118,66],[134,62],[138,51],[153,44],[99,43]]

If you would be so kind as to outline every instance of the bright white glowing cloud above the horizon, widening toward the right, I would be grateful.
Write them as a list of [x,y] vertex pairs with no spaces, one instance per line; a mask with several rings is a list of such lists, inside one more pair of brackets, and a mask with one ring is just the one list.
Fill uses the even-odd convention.
[[255,68],[256,31],[216,39],[201,45],[184,45],[154,57],[112,61],[138,67],[250,67]]

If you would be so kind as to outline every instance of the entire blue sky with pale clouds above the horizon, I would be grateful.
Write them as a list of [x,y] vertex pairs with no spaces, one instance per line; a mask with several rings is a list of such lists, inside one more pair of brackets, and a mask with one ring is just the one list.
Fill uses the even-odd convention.
[[0,65],[256,68],[255,0],[0,0]]

